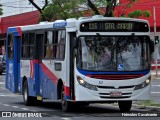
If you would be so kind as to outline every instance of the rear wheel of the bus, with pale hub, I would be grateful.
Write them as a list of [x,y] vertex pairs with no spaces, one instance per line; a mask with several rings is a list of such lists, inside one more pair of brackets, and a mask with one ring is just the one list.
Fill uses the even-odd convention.
[[28,84],[27,81],[25,81],[23,84],[23,100],[26,106],[31,105],[35,100],[35,98],[29,96],[28,93],[29,93]]

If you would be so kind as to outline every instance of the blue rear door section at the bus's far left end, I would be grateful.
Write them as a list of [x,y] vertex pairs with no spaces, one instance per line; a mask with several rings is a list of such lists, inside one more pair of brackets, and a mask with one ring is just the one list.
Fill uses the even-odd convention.
[[9,28],[6,40],[6,88],[13,93],[20,92],[20,28]]

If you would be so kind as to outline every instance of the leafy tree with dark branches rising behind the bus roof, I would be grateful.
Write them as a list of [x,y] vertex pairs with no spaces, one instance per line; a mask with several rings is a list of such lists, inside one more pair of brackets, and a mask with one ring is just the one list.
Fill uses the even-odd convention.
[[[41,21],[53,21],[56,19],[67,19],[71,17],[88,15],[103,15],[105,17],[126,17],[127,8],[140,0],[128,0],[117,2],[117,0],[52,0],[41,9],[33,0],[29,0],[41,13]],[[115,9],[116,8],[116,9]],[[150,11],[136,10],[128,14],[128,17],[150,17]]]

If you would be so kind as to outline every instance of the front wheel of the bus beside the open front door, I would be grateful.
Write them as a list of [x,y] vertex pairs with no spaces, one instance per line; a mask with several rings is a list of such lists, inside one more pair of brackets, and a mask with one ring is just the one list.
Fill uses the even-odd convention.
[[62,86],[62,89],[61,89],[61,106],[62,106],[62,110],[64,112],[67,112],[70,110],[70,107],[71,107],[71,103],[67,100],[65,100],[64,98],[64,87]]

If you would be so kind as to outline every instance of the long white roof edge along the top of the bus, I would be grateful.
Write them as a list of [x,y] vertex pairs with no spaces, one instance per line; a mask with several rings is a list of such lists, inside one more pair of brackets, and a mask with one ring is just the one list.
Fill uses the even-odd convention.
[[[92,17],[80,17],[79,19],[70,18],[70,19],[67,19],[66,21],[56,20],[55,22],[41,22],[39,24],[34,24],[34,25],[9,27],[8,33],[17,32],[17,28],[19,28],[21,31],[48,29],[48,28],[65,28],[66,26],[69,27],[76,24],[80,24],[82,22],[103,21],[103,20],[137,21],[137,22],[145,22],[149,24],[149,22],[144,19],[125,18],[125,17],[103,17],[102,15],[95,15]],[[74,23],[74,24],[69,24],[69,23]]]

